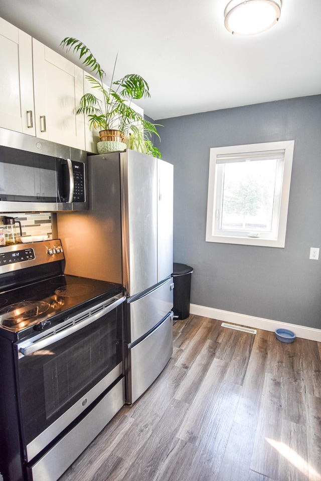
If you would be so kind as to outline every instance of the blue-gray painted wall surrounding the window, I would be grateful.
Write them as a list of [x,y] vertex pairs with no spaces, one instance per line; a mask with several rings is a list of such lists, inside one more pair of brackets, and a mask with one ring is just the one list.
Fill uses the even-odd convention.
[[[174,164],[174,261],[191,303],[321,328],[321,95],[158,120]],[[294,139],[285,248],[205,242],[210,147]],[[321,258],[320,258],[321,259]]]

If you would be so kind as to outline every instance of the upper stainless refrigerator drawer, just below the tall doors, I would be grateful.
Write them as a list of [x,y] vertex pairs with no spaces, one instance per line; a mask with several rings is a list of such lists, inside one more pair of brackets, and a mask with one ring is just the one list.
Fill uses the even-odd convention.
[[171,311],[173,308],[173,287],[173,279],[170,278],[135,301],[128,300],[126,342],[135,342]]

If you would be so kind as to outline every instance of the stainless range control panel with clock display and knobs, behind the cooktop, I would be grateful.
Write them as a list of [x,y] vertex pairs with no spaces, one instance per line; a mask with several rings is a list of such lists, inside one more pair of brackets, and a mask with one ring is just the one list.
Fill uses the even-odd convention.
[[0,274],[65,259],[60,239],[0,248]]

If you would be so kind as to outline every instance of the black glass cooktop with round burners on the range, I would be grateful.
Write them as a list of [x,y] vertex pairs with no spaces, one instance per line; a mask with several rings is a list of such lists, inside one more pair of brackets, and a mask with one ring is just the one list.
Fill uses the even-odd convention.
[[66,311],[121,293],[121,286],[83,277],[60,275],[0,293],[0,328],[19,332]]

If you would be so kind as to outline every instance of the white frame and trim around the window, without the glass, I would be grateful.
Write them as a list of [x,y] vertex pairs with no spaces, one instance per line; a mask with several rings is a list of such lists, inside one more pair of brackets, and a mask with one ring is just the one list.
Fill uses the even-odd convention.
[[[207,199],[206,242],[226,244],[244,244],[247,246],[278,247],[285,246],[286,221],[290,193],[294,140],[280,142],[264,142],[260,144],[233,145],[230,147],[214,147],[210,149],[210,169]],[[221,192],[223,188],[222,162],[220,158],[240,156],[258,152],[258,156],[269,155],[272,151],[284,151],[284,161],[278,165],[277,181],[282,182],[281,195],[273,210],[274,234],[260,232],[259,236],[251,231],[226,231],[219,229],[221,216]],[[221,166],[221,167],[220,167]],[[216,213],[214,218],[214,213]],[[278,215],[277,215],[278,213]],[[276,214],[276,215],[274,215]]]

